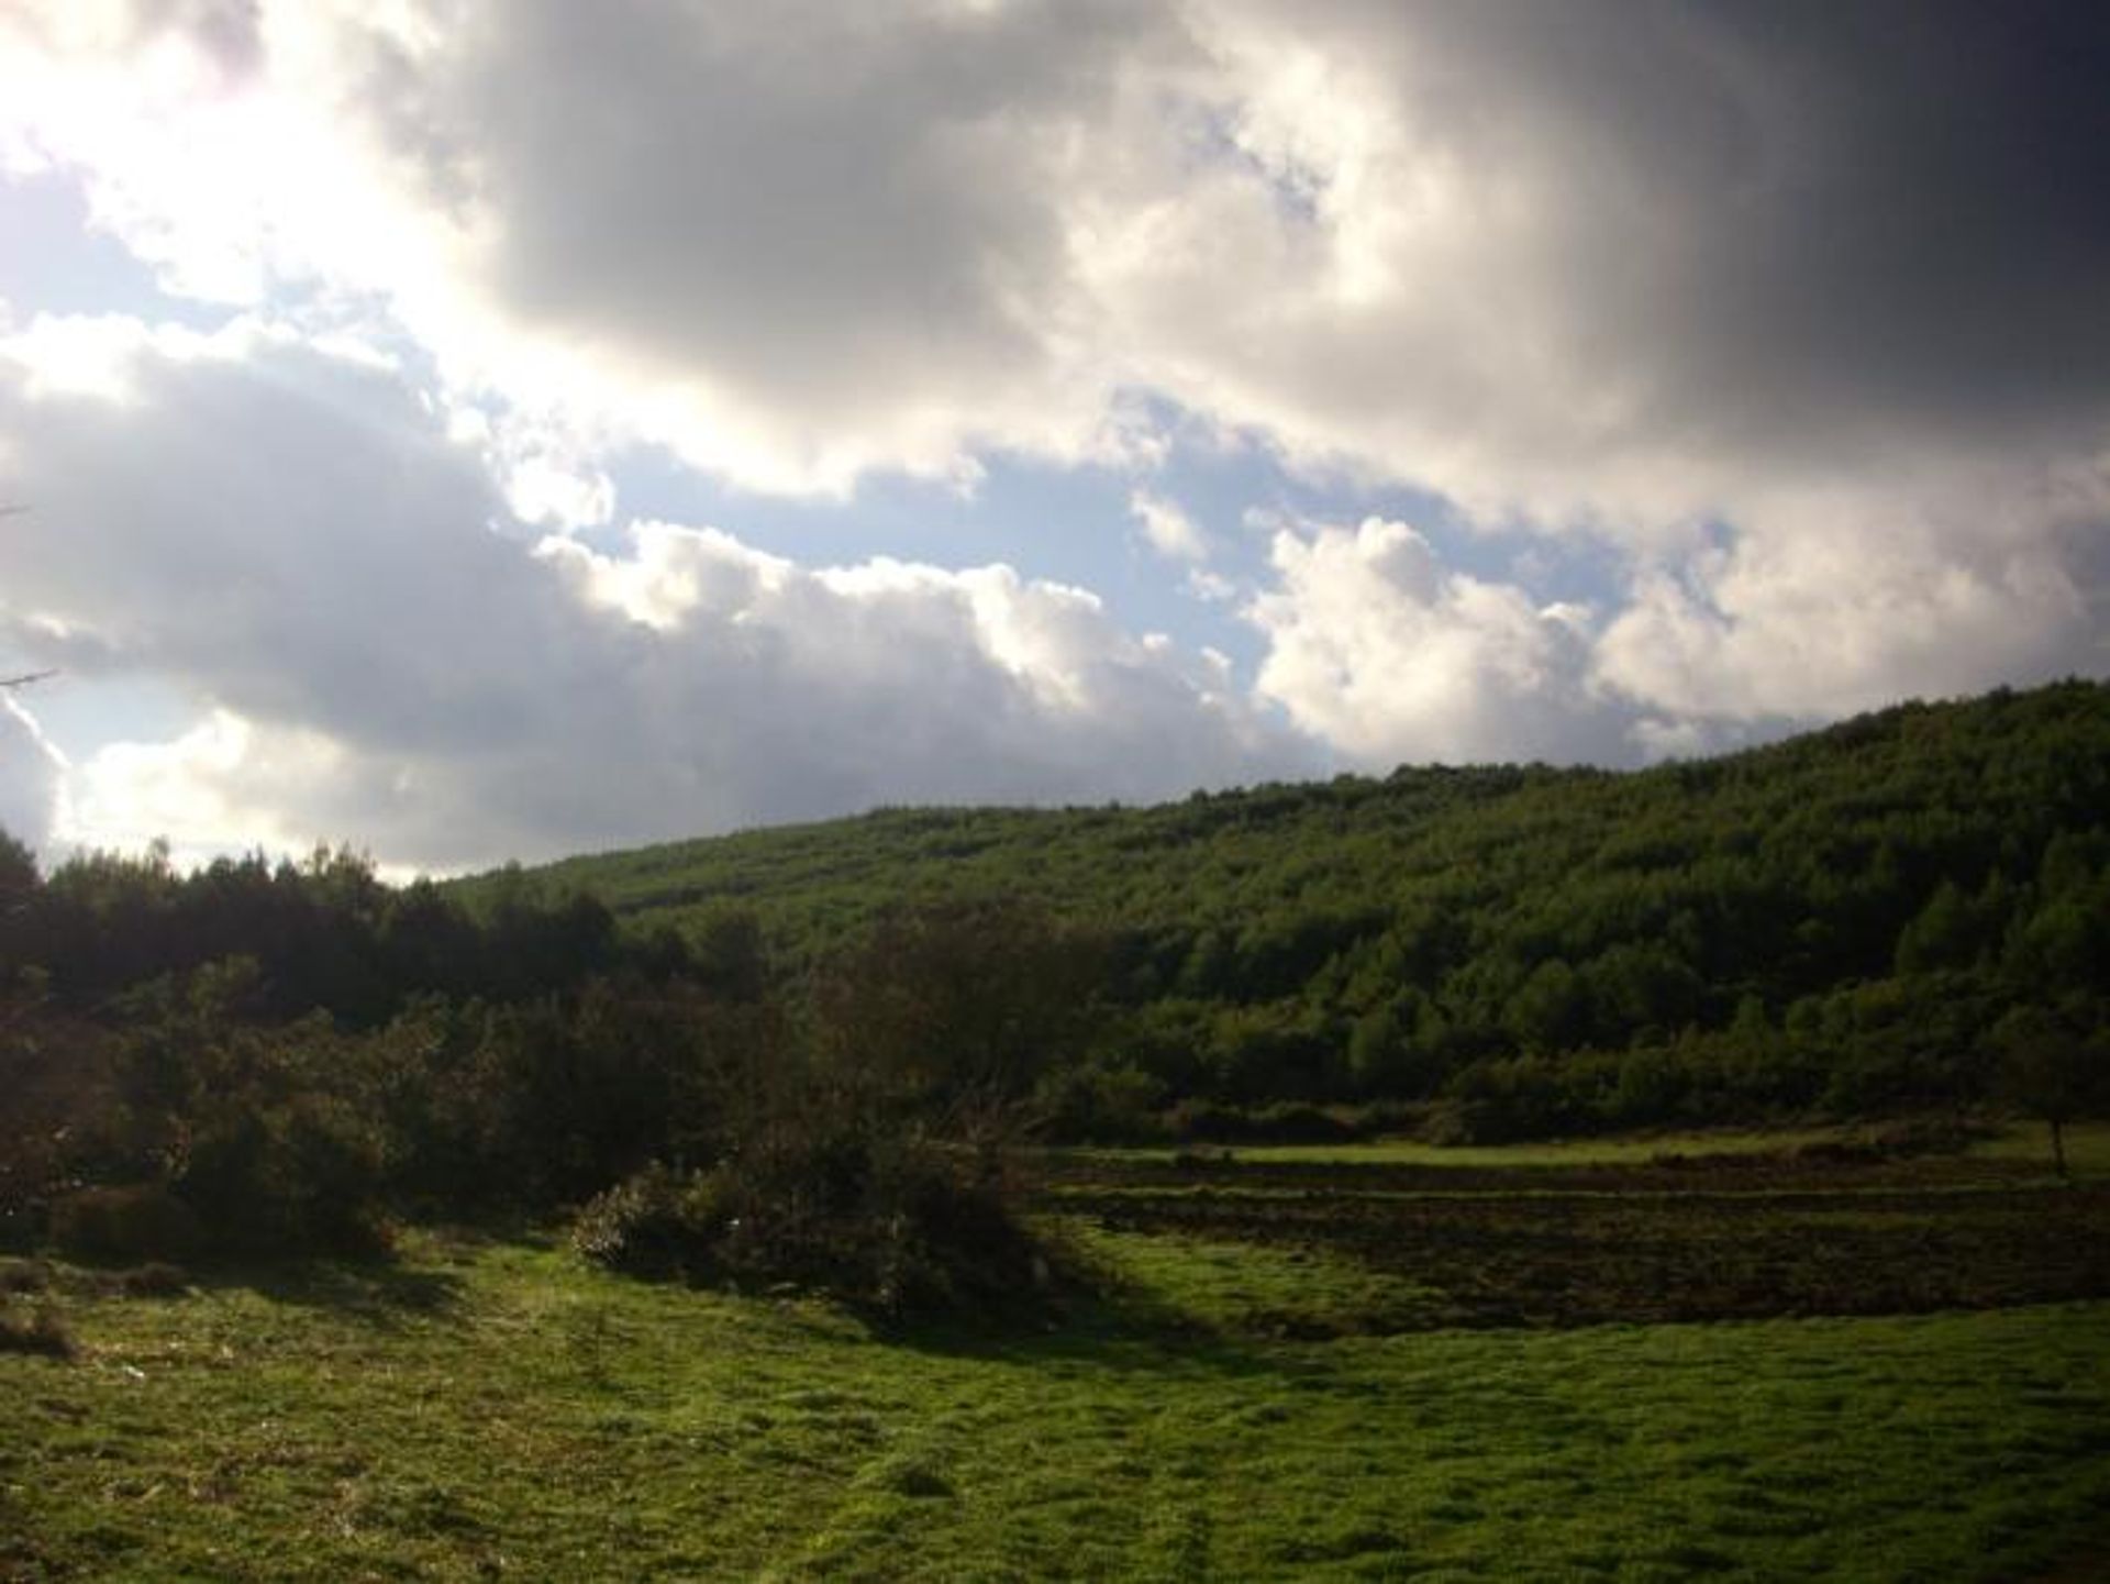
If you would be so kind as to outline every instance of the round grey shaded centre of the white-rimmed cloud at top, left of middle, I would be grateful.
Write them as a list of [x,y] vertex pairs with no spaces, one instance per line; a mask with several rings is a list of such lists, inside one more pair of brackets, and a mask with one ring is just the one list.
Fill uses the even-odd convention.
[[487,221],[519,327],[831,430],[1047,361],[1068,139],[1165,32],[1106,0],[530,0],[369,99]]

